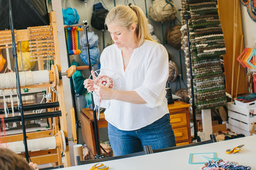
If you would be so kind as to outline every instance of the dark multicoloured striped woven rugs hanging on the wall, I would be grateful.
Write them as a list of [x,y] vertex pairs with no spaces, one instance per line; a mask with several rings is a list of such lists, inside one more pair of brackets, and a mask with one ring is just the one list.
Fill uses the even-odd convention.
[[[181,28],[182,49],[186,55],[187,77],[193,71],[194,96],[197,109],[209,109],[226,105],[226,87],[220,55],[226,53],[225,42],[214,0],[182,0],[182,11],[189,11],[189,39],[191,68],[189,68],[186,25]],[[183,24],[185,21],[182,21]],[[190,79],[188,88],[191,103]]]

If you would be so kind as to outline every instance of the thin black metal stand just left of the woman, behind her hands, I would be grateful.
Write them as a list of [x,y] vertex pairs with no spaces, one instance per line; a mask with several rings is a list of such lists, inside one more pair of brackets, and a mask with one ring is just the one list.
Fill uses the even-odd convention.
[[[91,74],[92,71],[92,66],[91,66],[91,57],[90,57],[90,52],[89,52],[89,48],[90,48],[90,44],[88,43],[88,34],[87,34],[87,30],[89,30],[89,26],[87,25],[87,22],[84,21],[84,34],[85,34],[85,47],[86,47],[86,52],[87,52],[87,60],[88,60],[88,66],[89,66],[89,72]],[[93,79],[91,77],[91,79]],[[94,122],[94,141],[95,141],[95,147],[96,147],[96,151],[97,151],[97,155],[95,155],[95,159],[99,159],[99,158],[103,158],[104,156],[101,155],[100,153],[100,141],[99,141],[99,131],[98,131],[98,121],[97,121],[97,115],[96,115],[96,111],[94,110],[94,100],[93,100],[93,94],[91,94],[92,96],[92,108],[93,108],[93,122]]]

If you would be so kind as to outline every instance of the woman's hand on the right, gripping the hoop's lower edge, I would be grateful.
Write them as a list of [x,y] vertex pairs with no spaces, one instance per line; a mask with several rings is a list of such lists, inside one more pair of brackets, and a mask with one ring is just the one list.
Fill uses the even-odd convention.
[[94,92],[99,96],[101,100],[113,99],[114,90],[111,90],[105,86],[94,85]]

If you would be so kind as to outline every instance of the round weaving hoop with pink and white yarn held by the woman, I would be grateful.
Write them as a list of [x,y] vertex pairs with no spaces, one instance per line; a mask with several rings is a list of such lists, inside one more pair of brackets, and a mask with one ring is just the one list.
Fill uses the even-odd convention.
[[[95,80],[94,80],[94,85],[98,85],[98,86],[105,86],[105,82],[102,83],[102,78],[107,78],[108,80],[106,80],[106,87],[112,89],[112,90],[120,90],[121,89],[121,78],[119,77],[119,75],[117,73],[114,73],[111,70],[107,70],[107,69],[102,69],[102,70],[96,70],[94,71],[89,79],[92,79],[93,75],[95,75]],[[110,79],[109,79],[110,78]],[[100,84],[97,84],[101,82]],[[110,86],[108,86],[110,84]]]

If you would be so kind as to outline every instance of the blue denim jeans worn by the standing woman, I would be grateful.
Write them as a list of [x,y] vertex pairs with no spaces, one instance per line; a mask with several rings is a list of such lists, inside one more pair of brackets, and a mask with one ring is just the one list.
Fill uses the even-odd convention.
[[146,145],[151,145],[152,149],[176,146],[169,114],[133,131],[119,130],[108,123],[108,137],[115,156],[142,151]]

